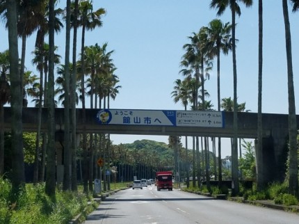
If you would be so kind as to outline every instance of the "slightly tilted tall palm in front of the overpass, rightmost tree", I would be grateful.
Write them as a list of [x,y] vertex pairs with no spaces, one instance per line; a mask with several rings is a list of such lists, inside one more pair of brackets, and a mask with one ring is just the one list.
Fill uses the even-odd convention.
[[[298,1],[293,0],[293,10],[298,9]],[[293,83],[293,64],[291,47],[291,29],[289,22],[288,3],[282,0],[284,13],[284,31],[286,37],[286,63],[288,71],[288,93],[289,93],[289,193],[299,198],[298,186],[298,151],[297,151],[297,121],[295,93]]]

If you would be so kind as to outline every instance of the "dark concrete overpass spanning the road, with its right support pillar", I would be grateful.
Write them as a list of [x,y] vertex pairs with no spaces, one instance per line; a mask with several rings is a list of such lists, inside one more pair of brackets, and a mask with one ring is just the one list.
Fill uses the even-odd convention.
[[[64,130],[64,109],[55,109],[56,131],[61,134]],[[134,110],[114,110],[129,112]],[[144,110],[145,111],[145,110]],[[153,111],[145,111],[154,113]],[[186,111],[188,112],[188,111]],[[194,113],[194,111],[190,111]],[[141,111],[140,113],[143,113]],[[99,109],[86,109],[86,125],[82,122],[82,109],[76,109],[76,133],[80,134],[83,129],[91,134],[127,134],[127,135],[161,135],[161,136],[207,136],[232,138],[234,136],[234,113],[221,113],[222,124],[212,125],[211,127],[200,127],[200,125],[163,125],[161,119],[156,119],[159,125],[129,125],[128,123],[111,122],[99,120]],[[10,107],[4,108],[4,130],[10,130],[11,121]],[[129,117],[129,116],[128,116]],[[263,113],[263,152],[260,152],[260,158],[257,158],[257,166],[264,170],[264,178],[267,182],[281,180],[284,177],[284,166],[287,156],[287,145],[289,136],[289,115],[276,113]],[[238,138],[257,139],[257,113],[239,112],[237,113]],[[166,118],[167,120],[167,118]],[[171,120],[171,119],[170,119]],[[38,108],[24,108],[22,111],[23,131],[37,131],[38,128]],[[209,126],[209,125],[208,125]],[[297,115],[297,129],[299,129],[299,115]],[[47,131],[47,109],[42,109],[42,131]],[[256,147],[257,148],[257,147]]]

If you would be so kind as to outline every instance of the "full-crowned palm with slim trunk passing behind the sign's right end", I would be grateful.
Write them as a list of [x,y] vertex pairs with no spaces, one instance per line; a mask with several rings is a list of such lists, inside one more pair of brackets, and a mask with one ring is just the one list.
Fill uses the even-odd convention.
[[[220,111],[220,51],[223,54],[228,54],[232,49],[231,45],[231,31],[232,25],[227,22],[223,24],[220,19],[213,19],[209,22],[207,27],[209,42],[208,51],[211,56],[217,57],[217,97],[218,97],[218,111]],[[218,180],[219,186],[222,182],[222,162],[221,162],[221,138],[218,138]]]

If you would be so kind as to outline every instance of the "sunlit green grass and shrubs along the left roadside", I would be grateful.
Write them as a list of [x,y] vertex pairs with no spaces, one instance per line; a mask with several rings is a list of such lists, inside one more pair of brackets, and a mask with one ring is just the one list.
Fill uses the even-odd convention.
[[88,207],[90,200],[83,193],[58,190],[53,201],[45,194],[45,184],[27,184],[14,198],[7,179],[0,179],[0,189],[0,223],[3,224],[68,223]]

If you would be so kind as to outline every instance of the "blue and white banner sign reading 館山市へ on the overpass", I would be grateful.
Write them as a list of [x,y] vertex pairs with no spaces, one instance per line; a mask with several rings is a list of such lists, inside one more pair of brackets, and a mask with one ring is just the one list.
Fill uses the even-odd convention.
[[149,111],[102,109],[97,113],[101,125],[147,125],[178,127],[224,127],[219,111]]

